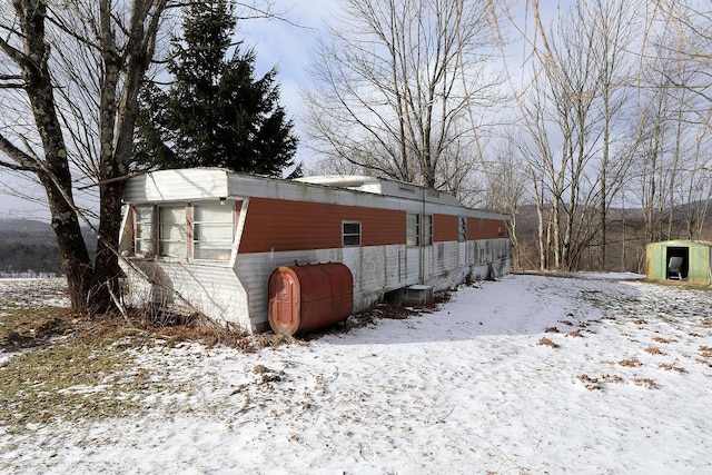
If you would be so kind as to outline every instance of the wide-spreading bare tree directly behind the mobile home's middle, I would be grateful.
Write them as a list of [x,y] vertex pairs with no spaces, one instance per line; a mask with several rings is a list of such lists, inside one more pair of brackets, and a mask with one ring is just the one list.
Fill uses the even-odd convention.
[[342,4],[317,51],[317,87],[305,93],[314,148],[427,187],[462,184],[467,170],[453,164],[469,162],[476,150],[461,125],[466,107],[494,97],[488,7],[475,0]]

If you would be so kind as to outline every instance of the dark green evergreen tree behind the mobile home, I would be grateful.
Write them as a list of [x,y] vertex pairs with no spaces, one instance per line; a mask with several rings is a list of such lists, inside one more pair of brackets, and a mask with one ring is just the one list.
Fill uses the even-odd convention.
[[233,47],[228,0],[194,2],[184,38],[175,38],[167,91],[141,91],[136,161],[151,168],[225,167],[280,175],[297,148],[294,122],[279,106],[276,68],[256,79],[255,51]]

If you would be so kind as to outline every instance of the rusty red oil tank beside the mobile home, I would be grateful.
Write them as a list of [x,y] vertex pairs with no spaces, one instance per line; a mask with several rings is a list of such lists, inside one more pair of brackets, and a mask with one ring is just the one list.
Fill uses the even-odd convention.
[[342,263],[283,266],[269,276],[269,326],[295,335],[345,320],[354,309],[354,276]]

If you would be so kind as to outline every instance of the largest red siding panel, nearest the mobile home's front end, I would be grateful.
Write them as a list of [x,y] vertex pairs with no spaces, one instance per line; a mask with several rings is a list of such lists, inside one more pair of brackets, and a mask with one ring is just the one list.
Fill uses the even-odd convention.
[[239,253],[342,247],[342,221],[362,224],[363,246],[405,244],[405,211],[251,198]]

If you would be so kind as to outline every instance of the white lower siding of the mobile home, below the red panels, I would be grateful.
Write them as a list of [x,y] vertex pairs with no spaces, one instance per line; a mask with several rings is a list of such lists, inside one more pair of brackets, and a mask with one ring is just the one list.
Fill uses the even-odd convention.
[[[425,261],[423,281],[419,275],[421,253]],[[465,255],[475,259],[468,263]],[[510,270],[508,239],[437,243],[423,248],[392,245],[240,254],[234,268],[166,259],[136,260],[156,285],[147,284],[138,274],[126,270],[130,298],[135,304],[154,301],[185,306],[169,291],[174,288],[205,315],[260,331],[268,328],[267,285],[270,274],[279,266],[318,263],[344,263],[348,266],[354,276],[354,310],[358,311],[382,299],[386,291],[409,285],[423,283],[438,290],[461,284],[468,275],[485,279],[506,274]]]

